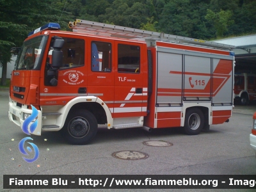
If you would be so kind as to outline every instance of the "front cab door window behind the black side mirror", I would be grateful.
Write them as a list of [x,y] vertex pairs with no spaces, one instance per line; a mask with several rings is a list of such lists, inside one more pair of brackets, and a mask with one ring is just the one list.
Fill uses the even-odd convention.
[[[63,63],[60,69],[80,67],[84,65],[84,40],[78,38],[62,37],[65,41],[61,51],[63,52]],[[51,63],[52,50],[48,54],[48,63]]]

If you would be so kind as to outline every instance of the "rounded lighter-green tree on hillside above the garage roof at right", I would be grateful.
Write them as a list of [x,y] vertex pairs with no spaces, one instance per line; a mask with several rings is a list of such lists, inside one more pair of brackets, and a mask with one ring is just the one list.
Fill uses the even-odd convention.
[[228,26],[234,23],[234,20],[231,20],[231,17],[232,12],[230,12],[230,10],[220,10],[218,13],[214,13],[212,10],[207,10],[205,19],[213,23],[217,37],[222,37],[223,33],[228,31]]

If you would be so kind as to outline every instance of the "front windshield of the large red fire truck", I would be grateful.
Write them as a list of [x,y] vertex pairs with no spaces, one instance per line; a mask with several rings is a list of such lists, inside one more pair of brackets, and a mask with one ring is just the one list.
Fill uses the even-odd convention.
[[24,42],[16,61],[15,70],[31,70],[39,68],[44,55],[48,36],[36,36]]

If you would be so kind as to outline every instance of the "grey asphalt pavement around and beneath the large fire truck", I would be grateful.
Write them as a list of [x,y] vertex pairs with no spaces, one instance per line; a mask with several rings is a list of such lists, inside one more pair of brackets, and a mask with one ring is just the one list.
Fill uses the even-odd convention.
[[[6,174],[256,175],[255,151],[250,147],[249,141],[255,105],[235,106],[230,122],[211,125],[210,131],[196,136],[187,136],[179,128],[158,129],[152,132],[141,129],[99,129],[90,145],[69,145],[60,132],[43,132],[42,136],[32,136],[33,143],[36,143],[40,150],[40,157],[34,163],[26,163],[19,151],[19,141],[26,134],[8,120],[8,90],[0,90],[0,108],[0,191],[17,191],[3,189],[3,175]],[[166,141],[173,145],[151,147],[144,145],[145,141]],[[112,156],[113,153],[123,150],[143,152],[148,157],[124,160]]]

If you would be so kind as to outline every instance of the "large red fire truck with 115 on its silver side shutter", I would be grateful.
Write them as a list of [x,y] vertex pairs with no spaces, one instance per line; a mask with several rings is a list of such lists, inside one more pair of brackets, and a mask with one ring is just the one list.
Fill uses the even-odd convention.
[[[31,32],[12,72],[8,116],[85,144],[108,129],[182,127],[198,134],[233,109],[231,45],[88,20]],[[28,54],[29,52],[29,54]],[[28,57],[28,55],[30,57]]]

